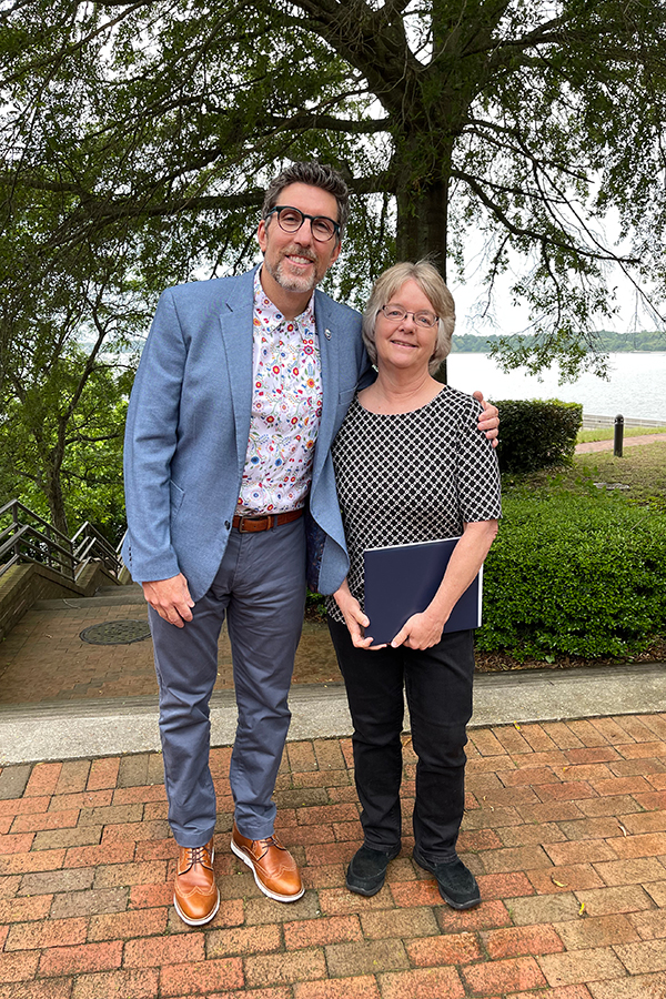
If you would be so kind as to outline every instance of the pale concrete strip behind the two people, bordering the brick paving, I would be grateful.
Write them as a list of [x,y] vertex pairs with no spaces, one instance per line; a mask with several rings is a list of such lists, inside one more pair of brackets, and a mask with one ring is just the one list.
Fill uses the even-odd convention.
[[[471,728],[528,725],[666,710],[666,664],[483,674],[474,683]],[[352,734],[344,685],[304,684],[290,694],[290,740]],[[211,745],[229,746],[236,727],[233,690],[211,698]],[[408,717],[405,717],[408,730]],[[4,707],[0,766],[160,749],[157,697]]]

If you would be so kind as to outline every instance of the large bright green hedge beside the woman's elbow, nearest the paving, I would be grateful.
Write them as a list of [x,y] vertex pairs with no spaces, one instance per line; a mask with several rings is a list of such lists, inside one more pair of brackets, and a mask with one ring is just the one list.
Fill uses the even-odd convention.
[[624,656],[666,634],[666,516],[616,498],[504,500],[477,647]]

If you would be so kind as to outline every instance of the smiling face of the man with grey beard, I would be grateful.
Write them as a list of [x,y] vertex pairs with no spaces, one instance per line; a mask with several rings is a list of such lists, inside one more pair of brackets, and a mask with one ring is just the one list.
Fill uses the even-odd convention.
[[[281,191],[279,201],[282,205],[300,209],[306,215],[326,215],[337,220],[335,196],[311,184],[287,184]],[[326,243],[315,240],[309,219],[297,232],[284,232],[275,215],[261,220],[256,238],[264,254],[261,270],[263,290],[287,319],[293,319],[303,312],[313,289],[337,260],[340,241],[336,236]]]

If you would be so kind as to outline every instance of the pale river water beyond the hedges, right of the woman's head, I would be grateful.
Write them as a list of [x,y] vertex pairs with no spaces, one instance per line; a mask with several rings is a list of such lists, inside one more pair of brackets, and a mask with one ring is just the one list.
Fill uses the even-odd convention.
[[583,404],[595,416],[659,420],[666,423],[666,352],[609,354],[609,380],[588,372],[558,384],[554,365],[539,382],[524,367],[504,373],[487,354],[451,354],[448,382],[463,392],[481,389],[486,398],[561,398]]

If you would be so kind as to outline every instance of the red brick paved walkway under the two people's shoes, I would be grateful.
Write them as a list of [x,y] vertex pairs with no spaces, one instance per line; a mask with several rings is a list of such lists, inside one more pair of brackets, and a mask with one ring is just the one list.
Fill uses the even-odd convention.
[[159,755],[7,768],[0,999],[663,999],[665,750],[666,715],[473,731],[460,846],[484,901],[456,914],[406,837],[380,895],[344,888],[361,834],[347,739],[287,745],[279,828],[307,891],[264,898],[229,849],[215,749],[223,902],[199,931],[170,905]]

